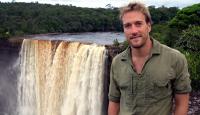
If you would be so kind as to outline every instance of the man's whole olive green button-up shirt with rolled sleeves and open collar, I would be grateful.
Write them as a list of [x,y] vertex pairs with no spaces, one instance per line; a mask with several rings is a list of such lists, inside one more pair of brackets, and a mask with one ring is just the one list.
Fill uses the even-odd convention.
[[185,56],[152,41],[141,74],[133,70],[130,47],[112,61],[109,100],[120,102],[120,115],[170,115],[173,95],[191,91]]

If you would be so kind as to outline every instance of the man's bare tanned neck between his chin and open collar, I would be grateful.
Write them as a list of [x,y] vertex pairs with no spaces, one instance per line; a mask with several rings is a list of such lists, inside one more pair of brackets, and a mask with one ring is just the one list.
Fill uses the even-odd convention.
[[150,55],[150,51],[152,48],[152,41],[151,39],[147,39],[146,43],[144,44],[144,46],[140,47],[140,48],[133,48],[131,47],[131,54],[132,56],[134,55],[135,58],[145,58],[148,57]]

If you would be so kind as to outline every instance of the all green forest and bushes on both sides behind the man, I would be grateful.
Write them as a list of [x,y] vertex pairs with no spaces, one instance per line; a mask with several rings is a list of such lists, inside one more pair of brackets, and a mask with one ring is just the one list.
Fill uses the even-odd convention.
[[[200,3],[182,9],[149,6],[149,10],[153,20],[151,36],[185,54],[193,90],[200,90]],[[123,31],[118,8],[0,2],[0,39],[42,33],[108,31]],[[119,45],[118,41],[113,43]]]

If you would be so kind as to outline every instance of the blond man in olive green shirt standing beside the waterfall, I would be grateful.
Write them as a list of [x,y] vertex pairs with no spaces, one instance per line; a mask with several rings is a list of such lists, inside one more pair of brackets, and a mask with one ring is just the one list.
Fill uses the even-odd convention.
[[121,8],[129,47],[112,62],[109,115],[187,115],[191,91],[180,52],[150,38],[151,17],[141,3]]

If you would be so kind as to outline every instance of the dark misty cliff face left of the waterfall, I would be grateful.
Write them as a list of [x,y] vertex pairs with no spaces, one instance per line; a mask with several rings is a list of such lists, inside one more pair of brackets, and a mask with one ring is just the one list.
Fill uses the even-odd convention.
[[14,115],[17,103],[17,59],[21,41],[0,39],[0,114]]

